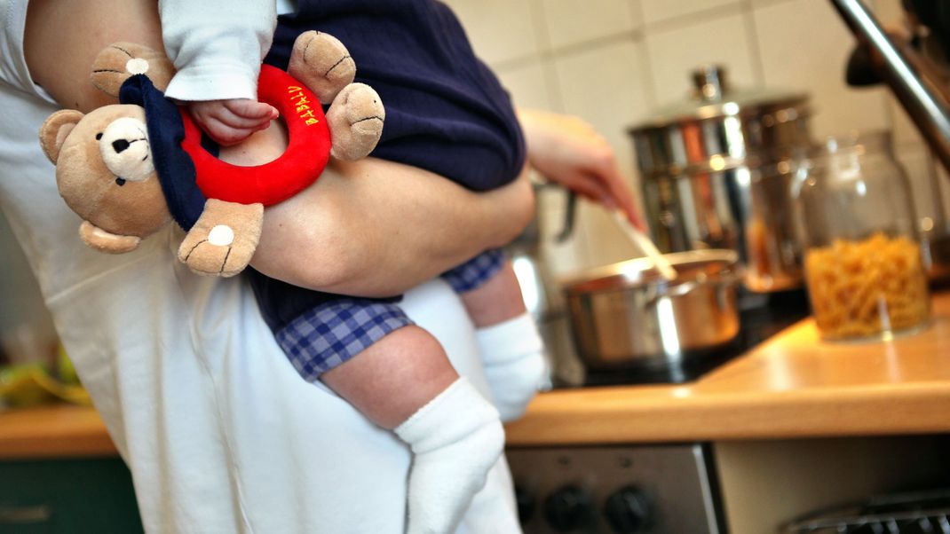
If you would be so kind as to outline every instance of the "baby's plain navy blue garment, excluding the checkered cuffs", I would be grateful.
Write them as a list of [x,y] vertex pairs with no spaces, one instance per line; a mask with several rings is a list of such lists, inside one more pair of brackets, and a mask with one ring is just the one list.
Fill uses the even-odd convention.
[[[356,81],[371,85],[386,106],[371,157],[419,167],[474,191],[501,187],[521,173],[524,141],[511,101],[447,6],[433,0],[300,0],[294,14],[277,19],[265,63],[286,69],[296,37],[311,29],[347,46]],[[247,272],[275,332],[341,298]]]

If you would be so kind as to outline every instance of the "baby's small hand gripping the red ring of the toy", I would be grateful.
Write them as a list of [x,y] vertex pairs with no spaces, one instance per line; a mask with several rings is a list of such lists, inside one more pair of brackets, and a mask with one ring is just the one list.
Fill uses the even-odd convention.
[[279,115],[274,106],[251,99],[192,101],[187,106],[201,129],[223,146],[267,128]]

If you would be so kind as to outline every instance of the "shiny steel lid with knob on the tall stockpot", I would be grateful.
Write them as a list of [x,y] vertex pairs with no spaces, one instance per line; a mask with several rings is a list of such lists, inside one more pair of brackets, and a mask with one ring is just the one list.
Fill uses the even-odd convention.
[[762,115],[779,110],[792,110],[788,113],[794,114],[793,110],[803,109],[808,100],[807,93],[769,88],[732,89],[727,80],[726,69],[721,65],[700,66],[693,70],[692,79],[692,98],[659,108],[654,118],[631,127],[630,132],[664,128],[685,121]]

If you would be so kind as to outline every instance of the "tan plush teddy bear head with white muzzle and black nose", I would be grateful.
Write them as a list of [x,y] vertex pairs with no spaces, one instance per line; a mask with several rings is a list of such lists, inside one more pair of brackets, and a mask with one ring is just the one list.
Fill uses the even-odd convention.
[[43,124],[40,140],[56,165],[60,195],[84,219],[80,235],[89,247],[126,252],[170,221],[142,107],[59,111]]

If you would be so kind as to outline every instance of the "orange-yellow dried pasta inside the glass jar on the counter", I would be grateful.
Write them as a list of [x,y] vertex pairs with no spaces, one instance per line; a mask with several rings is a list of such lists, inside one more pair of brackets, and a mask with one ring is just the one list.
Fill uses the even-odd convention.
[[826,339],[869,337],[921,324],[930,315],[920,246],[878,232],[809,249],[812,312]]

